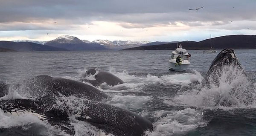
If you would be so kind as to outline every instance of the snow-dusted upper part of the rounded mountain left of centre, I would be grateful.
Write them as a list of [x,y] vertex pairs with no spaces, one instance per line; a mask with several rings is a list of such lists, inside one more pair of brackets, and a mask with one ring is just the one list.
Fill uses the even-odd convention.
[[61,35],[60,37],[47,42],[48,43],[84,43],[79,38],[69,35]]

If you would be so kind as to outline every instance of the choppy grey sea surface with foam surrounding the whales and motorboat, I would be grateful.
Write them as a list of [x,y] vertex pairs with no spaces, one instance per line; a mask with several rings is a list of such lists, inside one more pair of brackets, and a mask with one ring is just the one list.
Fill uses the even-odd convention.
[[[255,51],[235,50],[246,76],[223,74],[220,78],[234,78],[221,80],[219,87],[211,89],[199,89],[200,84],[195,81],[204,80],[218,52],[197,53],[201,50],[189,50],[192,58],[186,72],[169,71],[170,50],[0,52],[0,81],[17,83],[37,75],[79,80],[88,68],[95,67],[125,82],[113,87],[101,84],[98,88],[111,96],[106,103],[153,122],[154,131],[146,132],[147,136],[256,136],[256,90],[247,88],[248,84],[256,85]],[[239,86],[236,94],[233,86]],[[249,105],[240,101],[247,101],[248,91],[253,96]],[[19,95],[19,90],[15,92],[13,97]],[[229,107],[221,106],[218,101],[223,98],[236,102]],[[89,132],[97,136],[101,131],[84,122],[73,125],[76,136]],[[6,116],[0,110],[0,136],[49,135],[67,134],[31,114]]]

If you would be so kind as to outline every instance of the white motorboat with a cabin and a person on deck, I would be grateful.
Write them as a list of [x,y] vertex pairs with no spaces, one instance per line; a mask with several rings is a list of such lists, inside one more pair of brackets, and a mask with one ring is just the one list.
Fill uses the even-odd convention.
[[[176,60],[180,56],[181,64],[179,65]],[[172,55],[169,58],[169,69],[175,71],[186,71],[189,68],[191,55],[186,49],[183,49],[180,45],[175,51],[172,51]]]

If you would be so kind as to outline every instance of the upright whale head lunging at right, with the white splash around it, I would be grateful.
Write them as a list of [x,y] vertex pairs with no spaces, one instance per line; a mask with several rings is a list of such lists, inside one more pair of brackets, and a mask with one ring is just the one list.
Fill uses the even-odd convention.
[[206,90],[218,88],[216,97],[212,98],[222,106],[247,106],[255,99],[255,87],[247,78],[233,49],[223,49],[215,57],[202,85],[201,89]]

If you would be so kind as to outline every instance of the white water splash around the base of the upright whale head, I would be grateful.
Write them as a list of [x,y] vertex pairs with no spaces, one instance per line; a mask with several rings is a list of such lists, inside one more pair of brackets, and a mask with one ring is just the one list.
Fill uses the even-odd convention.
[[175,98],[197,107],[246,107],[256,103],[254,85],[238,67],[224,66],[208,78],[208,85],[189,90]]

